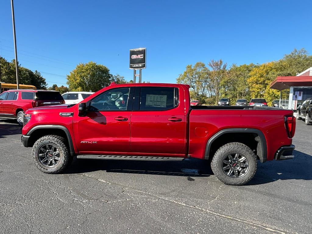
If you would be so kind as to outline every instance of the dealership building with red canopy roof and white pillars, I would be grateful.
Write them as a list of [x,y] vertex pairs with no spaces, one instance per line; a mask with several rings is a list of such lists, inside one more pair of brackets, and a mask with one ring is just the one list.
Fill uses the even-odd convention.
[[296,110],[304,100],[312,98],[312,67],[297,76],[278,76],[270,88],[280,91],[289,89],[288,109]]

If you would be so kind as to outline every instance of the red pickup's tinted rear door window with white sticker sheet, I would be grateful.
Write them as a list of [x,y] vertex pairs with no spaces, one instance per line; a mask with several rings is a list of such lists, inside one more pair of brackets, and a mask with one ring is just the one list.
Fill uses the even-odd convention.
[[138,110],[170,110],[178,106],[178,88],[141,87]]

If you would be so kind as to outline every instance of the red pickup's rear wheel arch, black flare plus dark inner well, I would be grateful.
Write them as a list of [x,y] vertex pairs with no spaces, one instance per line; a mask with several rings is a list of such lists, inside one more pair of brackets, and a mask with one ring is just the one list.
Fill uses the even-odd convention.
[[[235,139],[234,141],[228,141],[227,137]],[[241,136],[241,139],[237,139],[238,136]],[[253,139],[251,139],[251,136]],[[230,138],[230,139],[231,139]],[[212,159],[213,154],[216,152],[216,147],[219,145],[222,146],[229,142],[240,142],[246,144],[247,146],[253,145],[250,147],[252,150],[257,152],[257,156],[260,159],[261,163],[266,162],[267,160],[267,144],[266,138],[263,132],[259,129],[251,128],[232,128],[232,129],[223,129],[216,134],[214,134],[206,144],[205,150],[205,159]],[[253,149],[254,148],[254,149]]]

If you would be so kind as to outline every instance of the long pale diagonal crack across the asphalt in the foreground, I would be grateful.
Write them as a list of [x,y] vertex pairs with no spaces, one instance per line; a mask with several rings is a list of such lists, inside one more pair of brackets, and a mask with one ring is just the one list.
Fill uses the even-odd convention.
[[[243,224],[248,224],[248,225],[250,225],[252,227],[265,229],[266,231],[270,231],[270,232],[274,232],[274,233],[278,233],[278,234],[286,234],[286,232],[288,232],[288,231],[280,230],[280,229],[277,229],[277,228],[269,227],[268,225],[265,225],[265,224],[260,224],[260,223],[256,223],[256,222],[252,222],[252,221],[247,221],[247,220],[240,219],[240,218],[237,218],[237,217],[233,217],[233,216],[230,216],[230,215],[227,215],[227,214],[222,214],[222,213],[219,213],[219,212],[215,212],[213,210],[209,210],[209,209],[206,209],[206,208],[203,208],[203,207],[191,206],[191,205],[186,204],[184,202],[175,201],[175,200],[169,199],[167,197],[161,197],[161,196],[158,196],[158,195],[155,195],[155,194],[151,194],[151,193],[148,193],[148,192],[140,191],[140,190],[135,189],[135,188],[130,188],[130,187],[124,186],[122,184],[118,184],[118,183],[115,183],[115,182],[110,182],[110,181],[106,181],[106,180],[103,180],[103,179],[99,179],[99,178],[96,178],[94,176],[87,175],[85,173],[82,173],[81,176],[87,177],[87,178],[91,178],[91,179],[94,179],[94,180],[97,180],[97,181],[100,181],[100,182],[103,182],[103,183],[108,183],[109,185],[114,185],[114,186],[117,186],[119,188],[123,188],[124,190],[130,190],[132,192],[141,193],[141,194],[144,194],[145,196],[156,197],[158,199],[161,199],[161,200],[164,200],[164,201],[167,201],[167,202],[171,202],[171,203],[174,203],[174,204],[182,206],[182,207],[188,207],[188,208],[195,209],[195,210],[198,210],[198,211],[201,211],[201,212],[206,212],[206,213],[209,213],[209,214],[213,214],[213,215],[218,216],[218,217],[226,218],[226,219],[229,219],[229,220],[232,220],[232,221],[240,222],[240,223],[243,223]],[[216,199],[214,199],[214,200],[216,200]],[[212,202],[212,201],[210,201],[210,202]]]

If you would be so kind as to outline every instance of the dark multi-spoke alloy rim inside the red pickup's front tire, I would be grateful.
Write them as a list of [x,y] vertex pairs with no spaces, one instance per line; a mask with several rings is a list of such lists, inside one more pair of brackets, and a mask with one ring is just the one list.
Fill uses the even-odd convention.
[[61,159],[60,151],[52,144],[44,144],[38,150],[38,160],[45,167],[55,167]]

